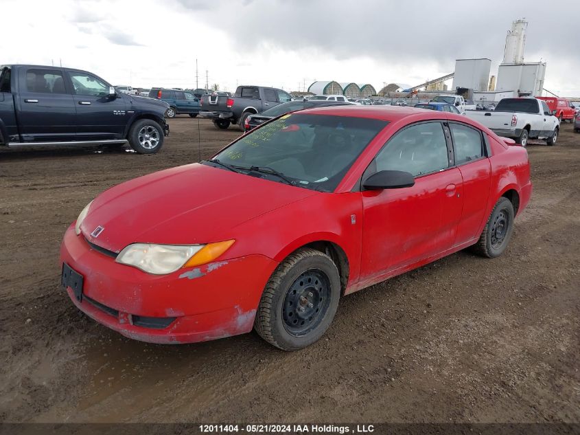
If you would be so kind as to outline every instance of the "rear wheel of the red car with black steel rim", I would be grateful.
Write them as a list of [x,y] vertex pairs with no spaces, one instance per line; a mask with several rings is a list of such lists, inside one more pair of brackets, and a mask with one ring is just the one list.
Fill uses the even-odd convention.
[[479,240],[472,246],[473,252],[487,258],[496,258],[505,251],[513,232],[513,204],[501,197],[491,211]]

